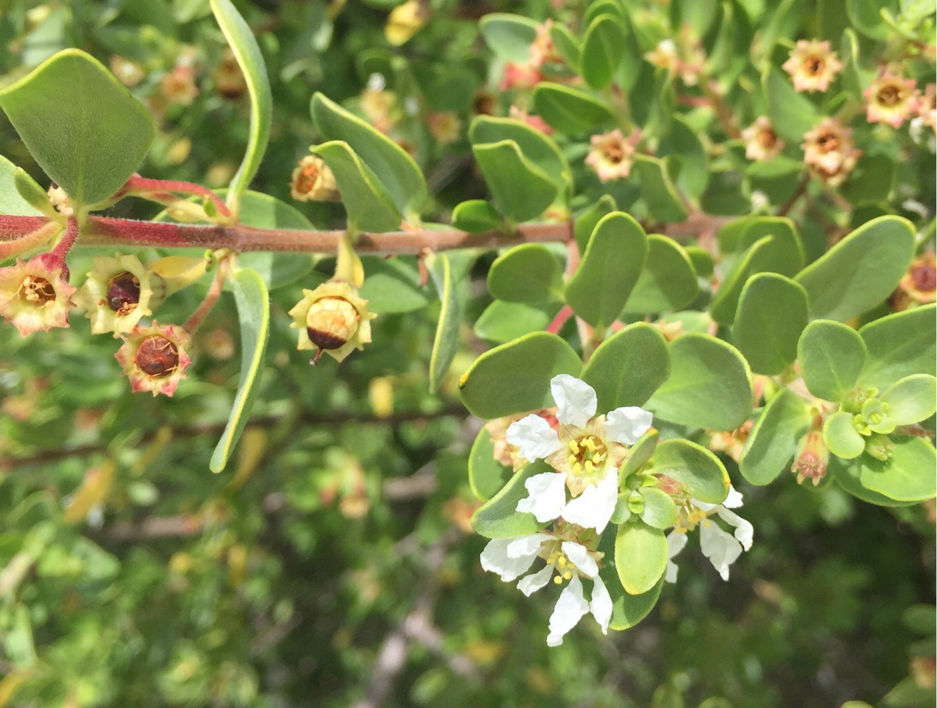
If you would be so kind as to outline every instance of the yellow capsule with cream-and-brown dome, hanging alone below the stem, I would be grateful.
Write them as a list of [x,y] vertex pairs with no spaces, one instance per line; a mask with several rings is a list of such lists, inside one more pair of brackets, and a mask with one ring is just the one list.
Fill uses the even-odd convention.
[[330,280],[315,290],[303,290],[303,299],[290,310],[290,327],[299,330],[297,349],[318,349],[335,361],[344,360],[353,349],[364,349],[371,341],[367,301],[342,280]]

